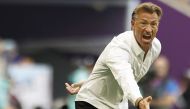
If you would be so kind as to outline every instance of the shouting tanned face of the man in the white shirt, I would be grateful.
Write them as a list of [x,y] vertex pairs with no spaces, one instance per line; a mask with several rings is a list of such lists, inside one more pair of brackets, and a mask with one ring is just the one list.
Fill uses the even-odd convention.
[[139,46],[147,52],[158,31],[159,17],[154,13],[139,11],[132,20],[132,30]]

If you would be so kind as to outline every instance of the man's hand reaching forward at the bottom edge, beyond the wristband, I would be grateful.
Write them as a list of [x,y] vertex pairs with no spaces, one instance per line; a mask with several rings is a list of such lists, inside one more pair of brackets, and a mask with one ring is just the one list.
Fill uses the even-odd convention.
[[150,102],[152,101],[152,97],[148,96],[146,98],[143,98],[140,102],[139,102],[139,109],[150,109]]

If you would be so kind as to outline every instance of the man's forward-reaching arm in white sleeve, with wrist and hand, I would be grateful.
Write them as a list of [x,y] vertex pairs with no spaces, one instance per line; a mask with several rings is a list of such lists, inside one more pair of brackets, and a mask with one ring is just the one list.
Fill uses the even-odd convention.
[[142,99],[129,59],[130,56],[127,51],[119,48],[112,48],[106,57],[106,65],[110,68],[115,79],[123,90],[123,99],[129,99],[134,106],[141,104],[139,105],[140,109],[146,109],[141,107],[145,107],[146,105],[149,106],[149,102],[151,100],[149,97]]

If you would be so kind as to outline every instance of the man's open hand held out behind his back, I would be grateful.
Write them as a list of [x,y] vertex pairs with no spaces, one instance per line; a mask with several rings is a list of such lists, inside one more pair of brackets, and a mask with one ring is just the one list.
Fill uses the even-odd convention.
[[66,89],[70,94],[77,94],[80,90],[80,87],[82,86],[82,84],[71,84],[69,85],[68,83],[65,83]]

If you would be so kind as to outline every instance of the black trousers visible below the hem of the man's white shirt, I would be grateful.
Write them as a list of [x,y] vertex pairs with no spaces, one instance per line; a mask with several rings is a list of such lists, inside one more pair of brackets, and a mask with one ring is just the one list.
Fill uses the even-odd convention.
[[75,101],[75,108],[76,109],[97,109],[96,107],[92,106],[91,104],[85,101]]

